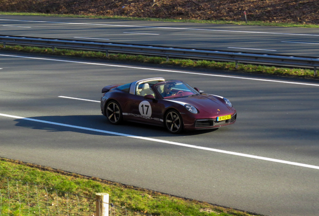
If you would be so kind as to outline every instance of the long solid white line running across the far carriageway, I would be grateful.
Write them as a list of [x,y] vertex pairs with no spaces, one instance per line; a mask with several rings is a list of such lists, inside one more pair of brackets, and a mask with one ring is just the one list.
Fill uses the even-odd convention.
[[57,21],[34,21],[34,20],[18,20],[18,19],[0,19],[0,20],[5,20],[5,21],[25,21],[25,22],[46,22],[46,23],[59,23],[59,24],[120,26],[120,27],[144,27],[144,28],[178,29],[178,30],[203,30],[203,31],[241,32],[241,33],[261,33],[261,34],[283,34],[283,35],[300,35],[300,36],[319,36],[319,34],[280,33],[280,32],[262,32],[262,31],[239,31],[239,30],[203,29],[203,28],[156,27],[156,26],[154,27],[154,26],[140,26],[140,25],[115,25],[115,24],[57,22]]

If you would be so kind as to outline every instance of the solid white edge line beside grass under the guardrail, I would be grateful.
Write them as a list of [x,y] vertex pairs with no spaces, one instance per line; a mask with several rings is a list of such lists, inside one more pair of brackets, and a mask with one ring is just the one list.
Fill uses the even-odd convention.
[[82,64],[92,64],[92,65],[102,65],[102,66],[113,66],[113,67],[123,67],[123,68],[132,68],[132,69],[144,69],[144,70],[154,70],[154,71],[162,71],[162,72],[187,73],[187,74],[196,74],[196,75],[205,75],[205,76],[217,76],[217,77],[226,77],[226,78],[257,80],[257,81],[280,82],[280,83],[288,83],[288,84],[319,86],[319,84],[314,84],[314,83],[279,81],[279,80],[271,80],[271,79],[248,78],[248,77],[240,77],[240,76],[217,75],[217,74],[209,74],[209,73],[198,73],[198,72],[187,72],[187,71],[177,71],[177,70],[155,69],[155,68],[147,68],[147,67],[124,66],[124,65],[114,65],[114,64],[105,64],[105,63],[70,61],[70,60],[39,58],[39,57],[27,57],[27,56],[8,55],[8,54],[0,54],[0,56],[20,57],[20,58],[29,58],[29,59],[39,59],[39,60],[52,60],[52,61],[61,61],[61,62],[70,62],[70,63],[82,63]]

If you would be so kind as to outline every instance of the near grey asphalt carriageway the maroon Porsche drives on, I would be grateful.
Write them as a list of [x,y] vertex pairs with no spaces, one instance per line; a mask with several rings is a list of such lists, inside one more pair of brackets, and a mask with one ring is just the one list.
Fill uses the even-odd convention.
[[[0,54],[0,156],[265,215],[315,215],[319,210],[318,82]],[[158,76],[226,96],[238,111],[237,122],[172,135],[143,124],[113,126],[100,114],[96,101],[103,86]]]

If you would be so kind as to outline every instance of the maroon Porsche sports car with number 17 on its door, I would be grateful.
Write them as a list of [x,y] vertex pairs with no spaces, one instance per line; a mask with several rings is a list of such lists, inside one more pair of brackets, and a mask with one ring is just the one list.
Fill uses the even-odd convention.
[[222,96],[201,93],[181,80],[148,78],[102,89],[101,110],[110,123],[123,120],[183,129],[211,129],[235,123],[236,109]]

